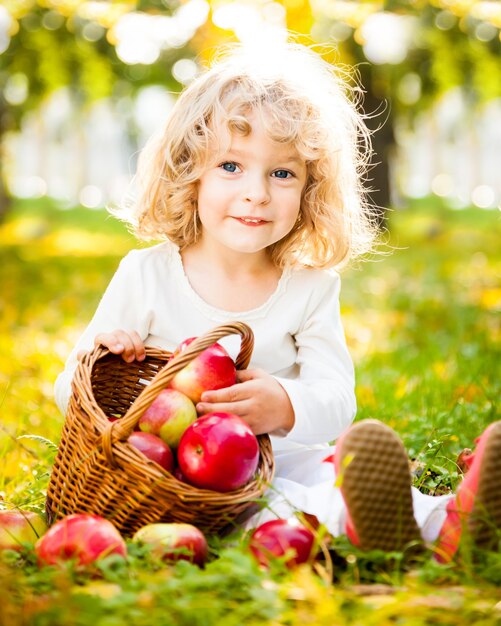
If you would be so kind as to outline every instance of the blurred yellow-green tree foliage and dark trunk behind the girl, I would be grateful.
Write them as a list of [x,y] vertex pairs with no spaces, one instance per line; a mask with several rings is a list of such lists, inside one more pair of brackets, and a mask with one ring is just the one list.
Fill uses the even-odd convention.
[[[287,31],[326,44],[333,62],[356,67],[368,125],[377,129],[372,199],[387,207],[399,123],[412,127],[454,90],[469,111],[501,97],[500,28],[501,3],[480,0],[3,0],[0,215],[19,194],[5,138],[58,92],[66,94],[82,133],[96,102],[128,111],[134,154],[141,139],[130,110],[142,88],[178,92],[218,44],[259,44]],[[86,160],[72,167],[85,186]],[[23,191],[50,195],[43,176],[33,192]],[[104,200],[99,196],[94,205]]]

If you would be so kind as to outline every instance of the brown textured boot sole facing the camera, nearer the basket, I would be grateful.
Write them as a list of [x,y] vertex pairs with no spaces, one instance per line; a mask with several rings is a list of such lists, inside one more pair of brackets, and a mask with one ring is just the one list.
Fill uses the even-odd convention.
[[363,550],[402,551],[422,538],[413,513],[409,461],[385,424],[365,420],[344,436],[340,488]]

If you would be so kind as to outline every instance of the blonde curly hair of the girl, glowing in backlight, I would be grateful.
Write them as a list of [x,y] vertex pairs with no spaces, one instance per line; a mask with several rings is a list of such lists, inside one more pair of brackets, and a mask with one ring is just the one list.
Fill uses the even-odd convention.
[[377,230],[364,188],[371,142],[358,111],[361,90],[352,83],[300,44],[262,55],[239,45],[222,50],[142,150],[137,197],[121,217],[141,239],[169,239],[181,250],[195,243],[200,176],[214,165],[220,137],[247,135],[249,114],[259,113],[269,136],[292,146],[307,167],[299,219],[270,246],[272,261],[340,267],[368,252]]

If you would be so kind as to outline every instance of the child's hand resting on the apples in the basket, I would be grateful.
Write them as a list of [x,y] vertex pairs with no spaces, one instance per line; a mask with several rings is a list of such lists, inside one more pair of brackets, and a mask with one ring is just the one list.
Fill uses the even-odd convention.
[[285,434],[294,426],[294,409],[282,385],[263,370],[240,370],[237,384],[205,391],[200,414],[223,411],[244,419],[255,435]]

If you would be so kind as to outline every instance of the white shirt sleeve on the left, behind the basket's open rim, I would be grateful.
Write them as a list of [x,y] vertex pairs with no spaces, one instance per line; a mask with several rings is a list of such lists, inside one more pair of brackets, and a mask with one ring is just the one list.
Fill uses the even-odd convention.
[[71,396],[71,382],[75,373],[80,351],[94,348],[94,338],[99,333],[114,330],[135,330],[142,339],[148,335],[149,319],[141,307],[142,285],[137,251],[127,254],[111,279],[96,312],[89,325],[71,351],[64,370],[59,374],[54,385],[54,397],[57,406],[66,414]]

